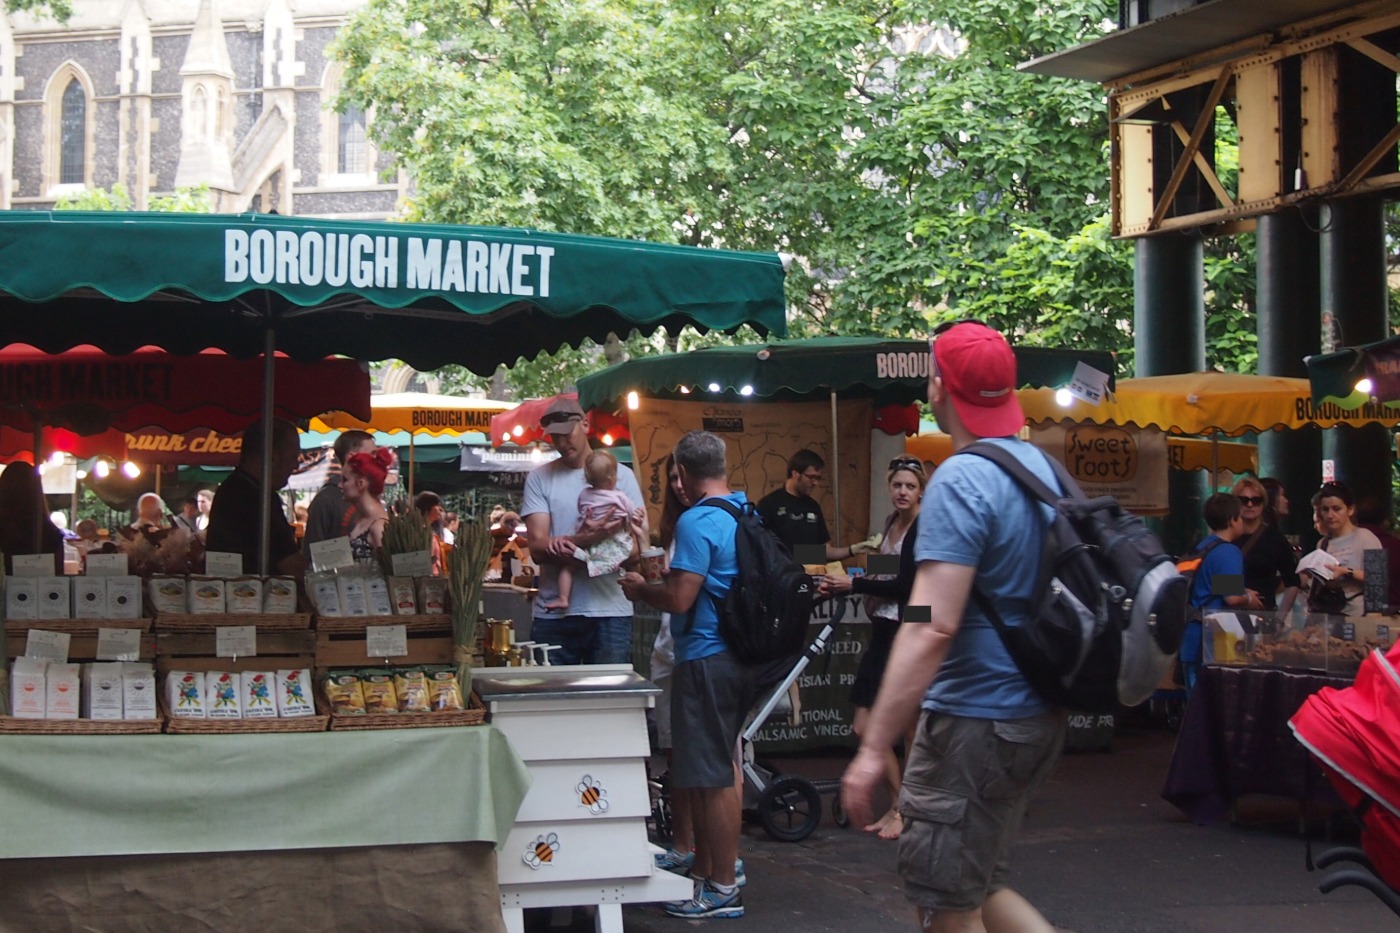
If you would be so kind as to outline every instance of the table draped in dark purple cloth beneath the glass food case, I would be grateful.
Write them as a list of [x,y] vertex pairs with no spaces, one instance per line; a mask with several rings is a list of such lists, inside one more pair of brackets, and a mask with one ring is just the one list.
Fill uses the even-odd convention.
[[1327,780],[1288,728],[1303,700],[1350,678],[1208,664],[1172,752],[1162,797],[1196,822],[1226,820],[1240,797],[1334,803]]

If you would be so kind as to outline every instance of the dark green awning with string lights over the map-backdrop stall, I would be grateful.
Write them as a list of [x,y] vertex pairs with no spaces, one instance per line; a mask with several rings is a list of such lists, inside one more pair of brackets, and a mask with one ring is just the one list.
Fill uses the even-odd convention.
[[[1106,350],[1015,347],[1022,387],[1067,385],[1086,363],[1114,377]],[[584,409],[613,408],[627,392],[651,398],[806,399],[869,396],[876,405],[921,402],[928,387],[928,340],[812,338],[750,346],[717,346],[648,356],[578,380]]]

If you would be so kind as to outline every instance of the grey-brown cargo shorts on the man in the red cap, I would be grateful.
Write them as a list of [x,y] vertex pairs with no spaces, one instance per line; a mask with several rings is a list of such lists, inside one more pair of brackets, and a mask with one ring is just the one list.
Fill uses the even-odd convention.
[[1065,714],[966,719],[923,713],[904,766],[899,874],[923,908],[974,911],[1007,887],[1030,794],[1054,769]]

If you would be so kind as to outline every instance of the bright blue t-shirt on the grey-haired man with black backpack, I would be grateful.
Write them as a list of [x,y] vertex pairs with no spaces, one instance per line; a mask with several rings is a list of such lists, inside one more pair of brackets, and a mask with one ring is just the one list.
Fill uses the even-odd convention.
[[[729,493],[725,499],[739,507],[748,502],[742,492]],[[700,503],[703,502],[701,499]],[[671,616],[676,664],[699,661],[728,650],[720,637],[717,607],[729,595],[729,587],[739,576],[739,559],[734,546],[738,524],[722,507],[700,503],[683,511],[676,521],[676,555],[671,559],[672,570],[704,577],[696,595],[694,621],[690,622],[686,615]]]

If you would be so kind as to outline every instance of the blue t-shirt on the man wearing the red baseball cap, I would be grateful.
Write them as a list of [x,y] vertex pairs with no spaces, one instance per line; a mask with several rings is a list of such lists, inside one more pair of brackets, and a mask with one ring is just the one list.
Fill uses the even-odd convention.
[[[1037,448],[1014,438],[991,443],[1014,452],[1051,489],[1058,488],[1054,469]],[[977,587],[1002,621],[1016,626],[1030,609],[1050,518],[1050,507],[1033,500],[997,464],[976,455],[951,457],[924,493],[914,559],[977,567]],[[1025,719],[1047,709],[970,597],[923,707],[973,719]]]

